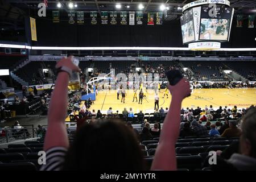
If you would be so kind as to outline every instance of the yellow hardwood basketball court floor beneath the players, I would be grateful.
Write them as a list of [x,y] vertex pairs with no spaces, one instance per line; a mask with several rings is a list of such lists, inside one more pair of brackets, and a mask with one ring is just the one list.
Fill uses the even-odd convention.
[[[127,90],[125,104],[121,102],[121,96],[117,100],[116,91],[102,90],[96,96],[96,101],[90,107],[90,111],[95,109],[97,112],[100,109],[103,114],[106,114],[109,107],[112,107],[114,112],[118,110],[119,113],[122,113],[124,107],[127,110],[131,107],[134,113],[138,113],[139,110],[143,110],[144,113],[152,113],[155,95],[153,90],[147,90],[147,92],[146,99],[143,99],[143,104],[141,105],[138,102],[133,102],[133,90]],[[164,90],[161,90],[159,93],[159,107],[169,107],[171,96],[168,94],[168,98],[162,98],[163,94]],[[200,106],[203,109],[205,106],[212,105],[214,109],[217,109],[219,106],[232,107],[237,105],[238,108],[246,108],[252,104],[256,105],[256,89],[193,89],[191,96],[185,98],[182,102],[182,107],[195,108]],[[69,117],[66,121],[69,121]]]

